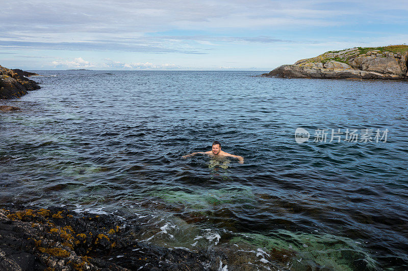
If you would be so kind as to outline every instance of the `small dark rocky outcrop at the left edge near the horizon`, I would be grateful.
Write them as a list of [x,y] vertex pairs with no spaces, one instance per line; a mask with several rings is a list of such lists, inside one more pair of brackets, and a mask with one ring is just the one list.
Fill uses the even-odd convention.
[[29,91],[39,88],[35,81],[24,76],[23,71],[15,72],[0,66],[0,99],[20,98]]

